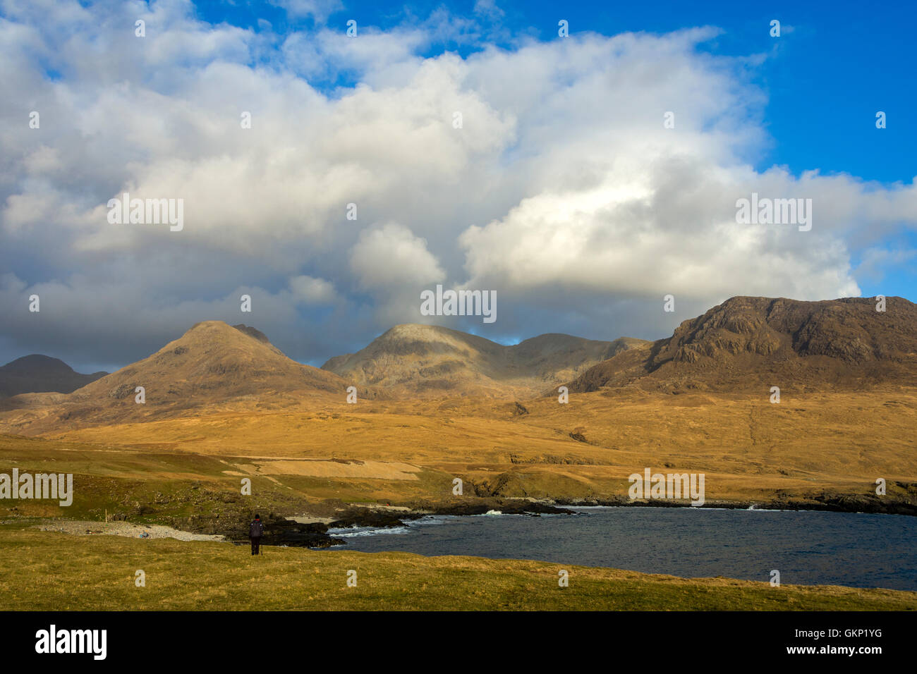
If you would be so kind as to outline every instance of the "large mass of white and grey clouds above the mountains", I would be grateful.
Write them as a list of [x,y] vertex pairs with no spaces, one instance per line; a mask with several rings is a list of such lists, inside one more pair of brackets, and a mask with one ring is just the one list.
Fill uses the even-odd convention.
[[[518,335],[658,336],[660,293],[698,313],[734,294],[857,294],[852,251],[917,224],[913,183],[752,169],[768,147],[759,59],[702,53],[714,28],[424,58],[486,31],[445,10],[348,39],[211,26],[177,1],[49,7],[0,18],[0,262],[17,274],[0,308],[51,299],[43,323],[6,322],[14,357],[57,338],[98,359],[111,336],[232,320],[239,288],[257,289],[249,322],[301,359],[415,320],[436,282],[496,290],[494,327]],[[108,225],[125,191],[184,199],[182,232]],[[735,224],[751,192],[812,198],[812,231]],[[310,312],[329,314],[303,342]]]

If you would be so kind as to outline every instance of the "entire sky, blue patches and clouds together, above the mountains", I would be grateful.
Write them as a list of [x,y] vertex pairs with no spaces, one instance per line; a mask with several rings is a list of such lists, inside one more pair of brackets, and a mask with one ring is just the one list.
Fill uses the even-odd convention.
[[[0,363],[116,370],[202,320],[318,366],[401,323],[913,301],[917,8],[799,5],[0,0]],[[113,222],[123,193],[181,229]],[[811,227],[742,221],[753,193]],[[496,320],[423,315],[436,285]]]

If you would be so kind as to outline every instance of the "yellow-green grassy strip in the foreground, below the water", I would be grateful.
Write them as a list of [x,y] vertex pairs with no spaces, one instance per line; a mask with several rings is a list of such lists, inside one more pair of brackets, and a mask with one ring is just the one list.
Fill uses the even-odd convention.
[[[146,587],[135,586],[135,572]],[[348,570],[357,587],[348,587]],[[558,587],[558,570],[569,587]],[[537,561],[72,536],[0,525],[0,596],[54,610],[915,610],[917,592],[646,575]]]

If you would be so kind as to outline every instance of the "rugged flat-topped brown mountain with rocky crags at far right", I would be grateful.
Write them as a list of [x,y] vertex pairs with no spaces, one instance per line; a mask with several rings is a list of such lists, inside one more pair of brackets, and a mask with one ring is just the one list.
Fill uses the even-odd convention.
[[917,304],[889,297],[800,302],[733,297],[672,337],[583,372],[574,392],[629,384],[677,391],[917,383]]

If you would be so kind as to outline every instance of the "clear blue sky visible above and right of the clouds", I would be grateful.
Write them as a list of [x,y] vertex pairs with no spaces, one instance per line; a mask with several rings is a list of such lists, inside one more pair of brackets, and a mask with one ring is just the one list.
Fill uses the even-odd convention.
[[[329,26],[359,25],[382,29],[411,17],[427,17],[447,7],[471,14],[475,3],[349,2],[326,17]],[[795,175],[818,169],[845,171],[865,181],[911,182],[917,175],[917,87],[914,78],[914,36],[917,4],[892,2],[872,6],[861,2],[582,2],[559,4],[501,2],[500,23],[514,34],[555,39],[558,17],[569,21],[571,32],[593,31],[614,35],[624,31],[666,33],[691,26],[715,26],[723,34],[706,48],[721,55],[743,56],[776,51],[757,73],[756,81],[768,94],[765,127],[771,136],[768,151],[752,158],[758,170],[778,164]],[[200,17],[211,22],[258,29],[259,19],[276,30],[315,27],[314,17],[287,17],[280,6],[265,3],[207,3]],[[769,35],[772,19],[790,27],[780,39]],[[511,47],[507,41],[497,41]],[[437,43],[433,55],[455,50],[467,55],[481,45]],[[889,117],[878,130],[877,110]],[[917,234],[902,230],[882,244],[889,250],[917,249]],[[862,260],[854,256],[855,264]],[[890,268],[879,279],[862,274],[864,294],[885,293],[917,298],[917,260]]]

